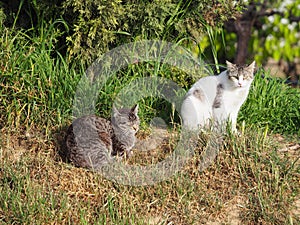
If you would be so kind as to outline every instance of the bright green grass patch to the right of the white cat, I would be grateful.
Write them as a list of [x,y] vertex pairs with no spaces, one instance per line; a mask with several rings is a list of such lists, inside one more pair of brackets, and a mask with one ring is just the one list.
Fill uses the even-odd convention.
[[[265,77],[262,78],[261,75]],[[258,71],[239,121],[269,127],[274,133],[300,136],[300,90],[290,88],[284,80]]]

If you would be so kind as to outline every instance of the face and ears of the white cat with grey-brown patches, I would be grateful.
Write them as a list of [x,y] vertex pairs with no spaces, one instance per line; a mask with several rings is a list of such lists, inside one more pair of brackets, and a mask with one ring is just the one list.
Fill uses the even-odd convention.
[[254,77],[255,61],[248,67],[238,67],[226,61],[228,79],[234,88],[249,87]]

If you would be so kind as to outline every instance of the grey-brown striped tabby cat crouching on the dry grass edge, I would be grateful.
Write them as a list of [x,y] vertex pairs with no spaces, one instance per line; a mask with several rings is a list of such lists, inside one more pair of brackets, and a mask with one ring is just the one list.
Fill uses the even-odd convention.
[[113,107],[111,121],[95,115],[78,118],[67,131],[66,157],[77,167],[99,170],[117,155],[130,156],[139,123],[138,105]]

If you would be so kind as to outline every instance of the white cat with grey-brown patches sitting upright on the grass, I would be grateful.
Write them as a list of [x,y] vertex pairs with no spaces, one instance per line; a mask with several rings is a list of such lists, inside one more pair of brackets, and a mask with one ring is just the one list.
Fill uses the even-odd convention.
[[183,127],[204,128],[211,121],[220,127],[229,120],[236,131],[238,112],[253,81],[255,61],[247,67],[226,64],[226,71],[201,78],[187,92],[181,106]]

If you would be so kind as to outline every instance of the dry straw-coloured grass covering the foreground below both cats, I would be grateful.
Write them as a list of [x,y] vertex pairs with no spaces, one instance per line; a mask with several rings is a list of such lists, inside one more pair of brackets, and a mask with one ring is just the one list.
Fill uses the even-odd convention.
[[[177,136],[160,132],[158,148],[136,150],[126,163],[145,165],[169,155]],[[140,132],[139,137],[147,135]],[[63,135],[60,131],[53,136]],[[247,136],[228,136],[205,171],[199,172],[201,152],[196,152],[166,181],[132,187],[63,162],[55,138],[2,130],[0,222],[297,224],[299,163],[293,162],[299,149],[296,154],[278,152],[284,140],[280,145],[274,140],[251,131]]]

